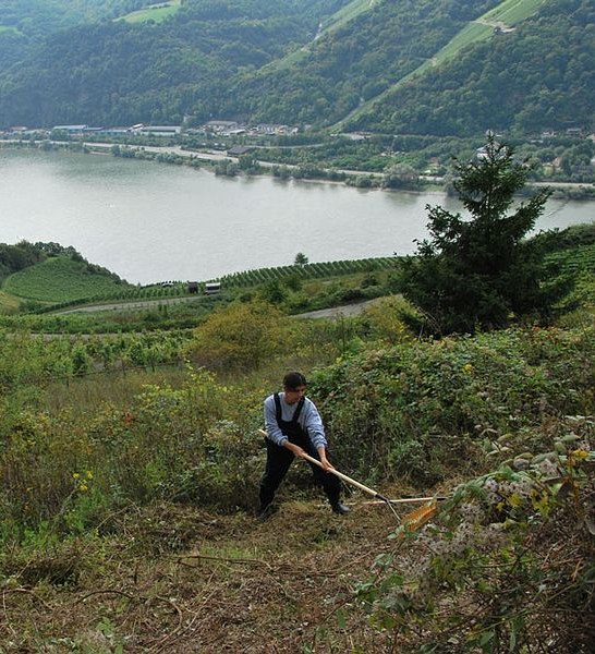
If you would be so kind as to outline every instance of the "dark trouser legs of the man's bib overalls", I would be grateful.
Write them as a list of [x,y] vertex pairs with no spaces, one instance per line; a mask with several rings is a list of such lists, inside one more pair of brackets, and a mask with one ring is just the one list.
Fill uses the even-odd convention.
[[[291,441],[295,445],[299,445],[314,459],[318,459],[318,461],[320,460],[320,457],[318,456],[316,448],[312,445],[309,438],[292,438]],[[267,464],[265,468],[265,474],[260,480],[260,509],[264,509],[272,501],[275,492],[279,487],[279,484],[283,481],[283,477],[293,462],[293,459],[295,459],[295,455],[287,447],[281,447],[268,438],[265,438],[265,443],[267,446]],[[339,477],[330,474],[329,472],[325,472],[315,463],[311,463],[308,461],[308,464],[312,468],[312,473],[316,484],[323,487],[331,505],[337,504],[341,494],[341,482],[339,481]]]

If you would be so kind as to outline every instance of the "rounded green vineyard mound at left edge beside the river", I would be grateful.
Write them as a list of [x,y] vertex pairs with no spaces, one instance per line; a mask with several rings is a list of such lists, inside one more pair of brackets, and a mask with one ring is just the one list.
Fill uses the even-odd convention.
[[11,275],[3,291],[26,300],[53,303],[92,298],[122,288],[125,286],[117,283],[113,277],[89,270],[85,262],[57,256]]

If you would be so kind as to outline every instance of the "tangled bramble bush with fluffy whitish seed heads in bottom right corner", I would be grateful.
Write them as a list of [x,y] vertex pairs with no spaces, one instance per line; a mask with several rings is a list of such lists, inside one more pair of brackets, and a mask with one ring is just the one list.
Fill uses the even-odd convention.
[[595,639],[595,421],[460,485],[354,588],[400,652],[576,652]]

